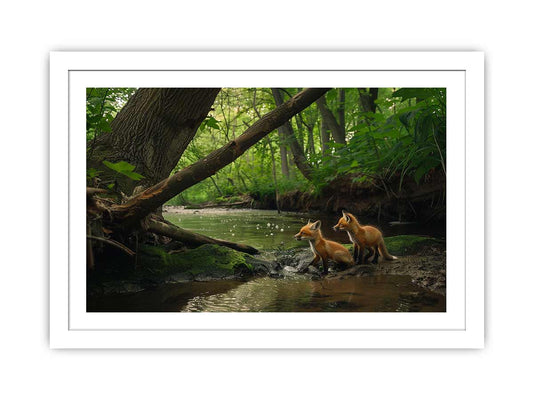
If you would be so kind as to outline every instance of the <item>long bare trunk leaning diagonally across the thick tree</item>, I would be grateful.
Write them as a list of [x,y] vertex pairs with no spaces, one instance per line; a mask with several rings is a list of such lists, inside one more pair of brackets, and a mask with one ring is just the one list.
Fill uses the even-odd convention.
[[172,197],[233,162],[268,133],[308,107],[328,90],[322,88],[304,89],[256,121],[235,140],[213,151],[204,159],[146,189],[128,202],[113,206],[113,216],[119,219],[124,226],[135,225]]

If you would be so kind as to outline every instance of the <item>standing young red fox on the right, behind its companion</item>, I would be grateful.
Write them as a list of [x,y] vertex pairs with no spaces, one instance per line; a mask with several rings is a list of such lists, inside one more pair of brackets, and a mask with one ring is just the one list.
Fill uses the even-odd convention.
[[[379,229],[370,225],[360,225],[353,214],[343,211],[339,223],[333,229],[348,233],[350,241],[353,243],[353,257],[358,264],[363,263],[366,248],[369,249],[370,254],[364,258],[364,262],[367,262],[370,257],[374,256],[372,263],[377,264],[380,253],[385,260],[391,261],[398,259],[398,257],[390,255],[387,251],[383,235]],[[356,255],[357,253],[358,255]]]

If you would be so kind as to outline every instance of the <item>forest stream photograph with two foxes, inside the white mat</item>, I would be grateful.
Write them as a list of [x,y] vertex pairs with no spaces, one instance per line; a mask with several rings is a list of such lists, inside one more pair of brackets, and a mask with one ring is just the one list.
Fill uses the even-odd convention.
[[86,311],[446,312],[446,88],[86,88]]

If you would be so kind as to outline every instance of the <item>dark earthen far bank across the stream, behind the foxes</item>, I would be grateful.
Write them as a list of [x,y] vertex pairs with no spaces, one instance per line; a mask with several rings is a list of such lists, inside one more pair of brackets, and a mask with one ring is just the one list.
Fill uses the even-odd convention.
[[[446,176],[435,172],[423,182],[396,177],[390,187],[381,187],[369,181],[354,182],[354,176],[338,177],[324,186],[319,193],[290,190],[280,193],[238,194],[220,197],[214,201],[184,206],[165,205],[169,212],[179,210],[261,209],[293,213],[338,213],[350,210],[358,216],[417,223],[445,224]],[[401,187],[401,190],[397,188]],[[397,192],[397,193],[396,193]]]

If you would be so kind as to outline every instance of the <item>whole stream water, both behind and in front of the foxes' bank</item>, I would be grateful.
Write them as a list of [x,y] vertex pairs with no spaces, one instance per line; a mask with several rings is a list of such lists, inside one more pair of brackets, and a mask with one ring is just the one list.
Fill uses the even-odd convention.
[[[207,236],[242,242],[269,256],[273,250],[309,248],[293,236],[308,218],[322,221],[325,237],[348,243],[346,233],[334,232],[335,215],[278,214],[271,210],[167,209],[174,224]],[[171,212],[168,212],[171,211]],[[416,234],[444,237],[442,228],[414,224],[389,226],[376,221],[385,235]],[[309,250],[310,251],[310,250]],[[168,283],[137,293],[88,298],[88,311],[137,312],[444,312],[445,296],[423,289],[406,275],[349,276],[312,280],[294,274],[283,278],[212,280]]]

